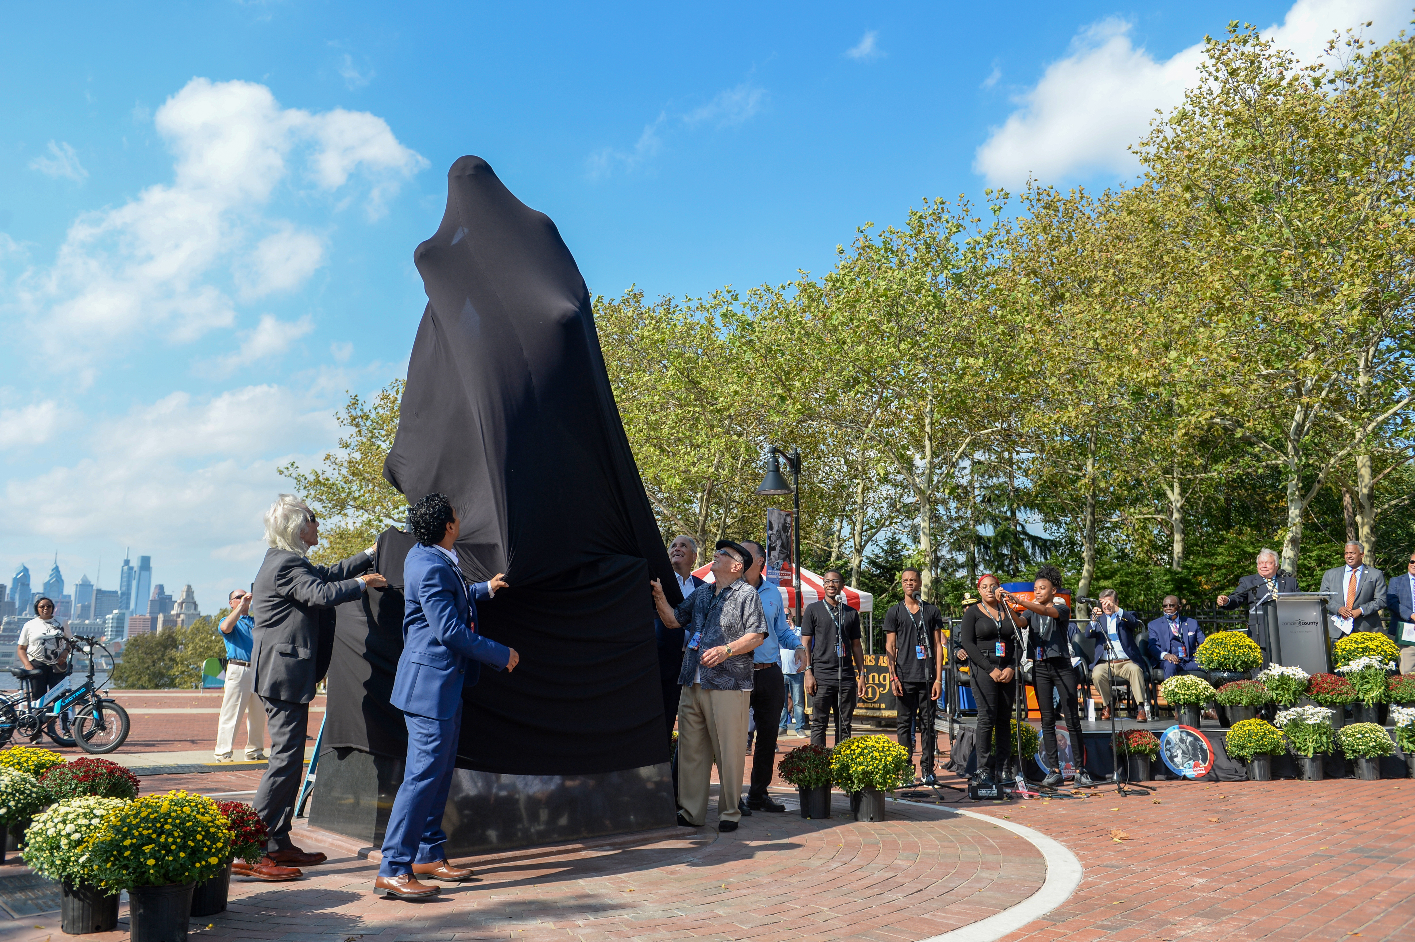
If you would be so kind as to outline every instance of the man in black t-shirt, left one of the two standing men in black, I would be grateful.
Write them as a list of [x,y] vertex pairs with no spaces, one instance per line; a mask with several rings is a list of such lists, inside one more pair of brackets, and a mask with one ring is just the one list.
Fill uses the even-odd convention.
[[[821,577],[825,598],[801,612],[801,641],[805,653],[805,694],[811,697],[811,744],[825,745],[825,724],[835,709],[835,741],[850,738],[856,672],[865,670],[860,645],[860,612],[838,598],[845,578],[833,569]],[[807,641],[809,639],[809,641]]]

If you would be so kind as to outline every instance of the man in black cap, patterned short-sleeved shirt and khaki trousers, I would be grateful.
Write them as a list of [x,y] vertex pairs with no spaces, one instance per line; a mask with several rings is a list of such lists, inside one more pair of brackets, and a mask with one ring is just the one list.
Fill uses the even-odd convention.
[[741,777],[747,765],[747,709],[751,700],[751,652],[767,636],[757,590],[743,580],[751,553],[717,540],[713,581],[674,608],[652,580],[654,607],[668,628],[683,631],[683,666],[678,682],[678,823],[708,823],[712,761],[717,757],[717,830],[737,830]]

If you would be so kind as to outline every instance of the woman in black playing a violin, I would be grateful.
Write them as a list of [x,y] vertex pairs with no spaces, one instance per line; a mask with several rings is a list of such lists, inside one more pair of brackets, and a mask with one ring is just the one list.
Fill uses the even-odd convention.
[[1061,784],[1061,761],[1057,755],[1057,710],[1051,703],[1053,690],[1060,692],[1065,713],[1067,733],[1071,735],[1071,758],[1075,762],[1075,784],[1092,785],[1082,761],[1085,744],[1081,738],[1081,714],[1077,707],[1077,673],[1071,663],[1071,608],[1060,598],[1061,570],[1043,566],[1032,583],[1032,598],[1017,598],[999,593],[1003,603],[1016,603],[1027,610],[1027,653],[1033,658],[1032,676],[1041,709],[1041,752],[1047,762],[1046,788]]

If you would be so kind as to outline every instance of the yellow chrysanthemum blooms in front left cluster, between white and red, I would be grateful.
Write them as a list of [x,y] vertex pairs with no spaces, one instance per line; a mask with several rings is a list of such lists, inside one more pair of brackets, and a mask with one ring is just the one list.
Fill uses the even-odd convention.
[[105,890],[211,880],[226,864],[232,833],[202,795],[147,795],[113,810],[88,847],[93,883]]

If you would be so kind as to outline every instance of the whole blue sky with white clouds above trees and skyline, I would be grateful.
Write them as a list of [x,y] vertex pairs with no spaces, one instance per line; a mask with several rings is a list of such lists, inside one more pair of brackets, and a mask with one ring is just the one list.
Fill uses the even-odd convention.
[[[1115,182],[1206,33],[1391,0],[0,7],[0,573],[126,546],[204,610],[276,468],[402,375],[413,248],[487,158],[590,290],[824,272],[866,221],[1027,173]],[[98,571],[102,560],[102,573]]]

